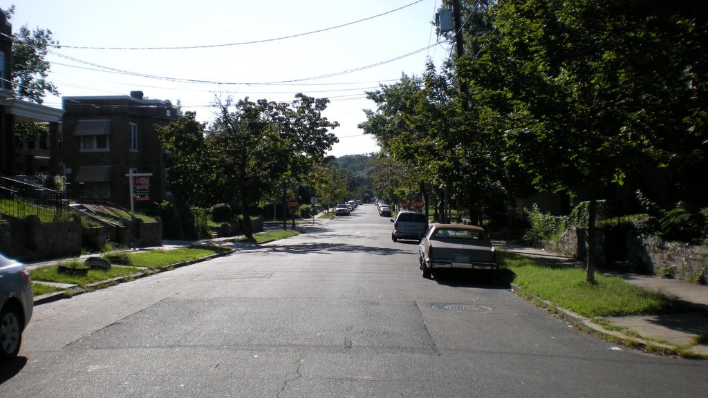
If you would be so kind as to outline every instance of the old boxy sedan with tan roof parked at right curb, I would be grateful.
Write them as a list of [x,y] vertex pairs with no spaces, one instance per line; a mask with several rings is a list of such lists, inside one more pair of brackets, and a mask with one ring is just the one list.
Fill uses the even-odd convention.
[[483,228],[433,224],[418,246],[423,278],[445,268],[497,270],[496,252]]

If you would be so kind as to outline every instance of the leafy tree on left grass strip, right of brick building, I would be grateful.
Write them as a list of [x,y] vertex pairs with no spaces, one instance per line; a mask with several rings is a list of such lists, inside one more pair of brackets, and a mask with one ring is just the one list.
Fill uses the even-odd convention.
[[206,140],[213,175],[224,202],[239,201],[248,239],[251,206],[275,186],[302,181],[337,140],[329,130],[338,123],[321,116],[329,100],[295,98],[292,105],[249,98],[217,104],[220,114]]

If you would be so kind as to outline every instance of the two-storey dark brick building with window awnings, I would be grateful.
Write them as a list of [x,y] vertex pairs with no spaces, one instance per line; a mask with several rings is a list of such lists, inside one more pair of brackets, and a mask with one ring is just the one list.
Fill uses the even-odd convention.
[[[72,193],[81,198],[103,198],[130,207],[129,178],[151,173],[149,200],[139,207],[166,199],[164,149],[155,125],[177,120],[170,101],[130,96],[69,96],[64,108],[62,157]],[[75,194],[74,194],[75,195]]]

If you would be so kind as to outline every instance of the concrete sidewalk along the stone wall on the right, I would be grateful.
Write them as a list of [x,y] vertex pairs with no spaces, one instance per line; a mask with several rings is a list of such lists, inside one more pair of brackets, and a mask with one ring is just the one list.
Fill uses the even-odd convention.
[[[549,258],[559,263],[584,266],[575,258],[550,253],[542,249],[495,241],[498,249],[523,256]],[[684,312],[659,315],[638,315],[632,317],[607,317],[605,321],[626,329],[626,331],[608,330],[607,327],[592,322],[590,319],[574,314],[567,309],[559,309],[571,321],[579,322],[590,329],[603,334],[629,339],[641,346],[654,346],[666,349],[680,349],[697,356],[708,358],[708,286],[696,285],[683,280],[663,279],[656,275],[635,273],[612,273],[632,285],[645,290],[661,292],[685,303]]]

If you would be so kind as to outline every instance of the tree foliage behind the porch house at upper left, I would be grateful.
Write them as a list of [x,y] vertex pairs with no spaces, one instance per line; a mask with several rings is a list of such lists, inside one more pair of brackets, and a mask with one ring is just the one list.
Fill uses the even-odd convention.
[[[11,6],[5,11],[8,18],[14,10],[15,7]],[[13,33],[11,80],[16,98],[41,104],[47,93],[59,95],[57,86],[47,80],[51,66],[45,60],[48,47],[59,47],[49,29],[29,30],[23,25],[19,32]]]

